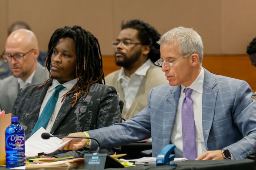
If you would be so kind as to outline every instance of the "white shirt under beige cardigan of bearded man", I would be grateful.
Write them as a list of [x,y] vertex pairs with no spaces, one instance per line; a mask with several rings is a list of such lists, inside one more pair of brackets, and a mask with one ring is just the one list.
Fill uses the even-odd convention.
[[127,77],[125,75],[124,68],[121,68],[117,81],[121,79],[121,87],[125,95],[125,108],[127,110],[131,107],[131,104],[140,88],[140,83],[150,68],[150,64],[151,60],[148,59],[142,66],[140,66],[140,68],[131,74],[131,77]]

